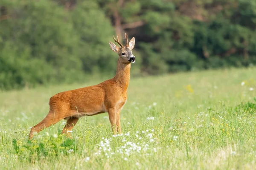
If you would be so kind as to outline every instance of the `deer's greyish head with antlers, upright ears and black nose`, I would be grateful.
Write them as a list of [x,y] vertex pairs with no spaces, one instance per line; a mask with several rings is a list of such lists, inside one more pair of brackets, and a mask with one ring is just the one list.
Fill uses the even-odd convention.
[[115,37],[113,36],[113,39],[115,42],[117,42],[121,47],[117,47],[113,42],[109,41],[109,45],[112,51],[116,52],[119,55],[119,59],[123,62],[123,63],[134,63],[135,62],[135,56],[132,54],[132,49],[134,48],[135,45],[135,38],[132,37],[132,39],[130,40],[129,44],[128,44],[128,36],[125,33],[125,40],[126,40],[126,44],[122,45],[119,42],[118,36],[117,36],[117,40],[115,39]]

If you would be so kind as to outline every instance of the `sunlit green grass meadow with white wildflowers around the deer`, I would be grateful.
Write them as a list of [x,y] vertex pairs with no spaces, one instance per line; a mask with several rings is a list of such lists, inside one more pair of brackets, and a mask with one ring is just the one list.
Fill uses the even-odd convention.
[[102,113],[81,118],[73,139],[55,138],[61,121],[28,141],[52,95],[101,81],[1,92],[0,169],[255,169],[255,74],[248,68],[131,77],[117,137]]

